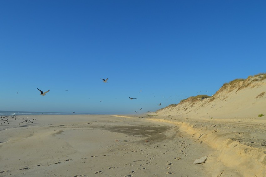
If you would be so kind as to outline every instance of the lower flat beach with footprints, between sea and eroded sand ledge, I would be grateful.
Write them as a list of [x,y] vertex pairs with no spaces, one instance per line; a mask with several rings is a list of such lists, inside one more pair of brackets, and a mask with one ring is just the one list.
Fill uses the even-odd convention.
[[1,126],[0,176],[211,176],[205,164],[192,163],[213,149],[172,123],[112,115],[33,118],[33,125]]

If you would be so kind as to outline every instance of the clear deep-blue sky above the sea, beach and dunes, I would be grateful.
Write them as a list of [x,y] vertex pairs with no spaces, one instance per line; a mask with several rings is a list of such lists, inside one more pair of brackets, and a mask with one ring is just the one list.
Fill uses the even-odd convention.
[[249,0],[1,0],[0,110],[139,114],[211,96],[266,72],[265,9]]

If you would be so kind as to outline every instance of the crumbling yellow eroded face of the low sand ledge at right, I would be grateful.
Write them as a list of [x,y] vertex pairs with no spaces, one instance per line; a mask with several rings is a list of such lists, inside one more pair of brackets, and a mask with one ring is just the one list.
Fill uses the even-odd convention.
[[[221,130],[213,130],[210,124],[198,128],[197,125],[188,122],[177,122],[163,119],[150,119],[152,121],[175,124],[183,133],[189,134],[198,143],[207,143],[216,149],[217,161],[221,161],[226,167],[233,168],[243,176],[264,176],[266,174],[265,148],[257,148],[248,145],[251,143],[244,137],[236,138],[236,135],[246,134],[243,131],[222,133]],[[215,126],[215,125],[213,125]],[[246,144],[245,144],[246,143]],[[257,143],[256,143],[257,144]],[[262,143],[264,144],[264,143]],[[264,146],[262,146],[264,147]]]

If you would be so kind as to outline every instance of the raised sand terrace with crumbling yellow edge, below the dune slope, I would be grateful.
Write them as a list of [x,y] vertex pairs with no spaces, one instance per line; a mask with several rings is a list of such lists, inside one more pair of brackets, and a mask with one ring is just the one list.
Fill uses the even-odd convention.
[[[199,120],[171,117],[170,120],[150,120],[175,124],[181,133],[187,133],[195,142],[206,143],[215,149],[208,155],[205,164],[211,176],[263,177],[266,174],[265,120],[253,123],[243,119]],[[221,174],[217,173],[219,171]]]

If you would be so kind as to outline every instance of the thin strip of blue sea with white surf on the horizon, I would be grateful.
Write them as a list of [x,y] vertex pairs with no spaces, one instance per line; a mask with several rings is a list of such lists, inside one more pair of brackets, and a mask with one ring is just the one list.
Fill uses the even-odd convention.
[[[75,113],[78,114],[78,113]],[[74,113],[65,112],[33,112],[33,111],[0,111],[0,116],[12,115],[74,115]]]

